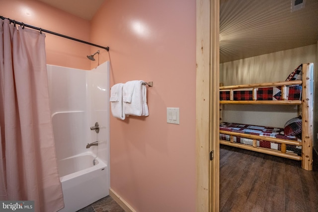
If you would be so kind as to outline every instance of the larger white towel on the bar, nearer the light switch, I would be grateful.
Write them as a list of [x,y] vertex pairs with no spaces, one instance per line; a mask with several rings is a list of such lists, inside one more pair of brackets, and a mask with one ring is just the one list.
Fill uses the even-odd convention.
[[149,116],[147,88],[143,80],[128,81],[123,86],[123,110],[126,115]]

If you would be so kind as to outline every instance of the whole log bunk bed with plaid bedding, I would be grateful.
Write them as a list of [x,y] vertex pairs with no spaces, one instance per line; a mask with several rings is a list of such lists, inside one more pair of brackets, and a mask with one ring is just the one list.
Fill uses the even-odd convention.
[[[299,117],[287,120],[284,128],[221,122],[220,144],[301,160],[302,168],[312,170],[314,65],[302,64],[300,67],[286,81],[220,86],[221,106],[299,105]],[[220,117],[222,121],[222,114]]]

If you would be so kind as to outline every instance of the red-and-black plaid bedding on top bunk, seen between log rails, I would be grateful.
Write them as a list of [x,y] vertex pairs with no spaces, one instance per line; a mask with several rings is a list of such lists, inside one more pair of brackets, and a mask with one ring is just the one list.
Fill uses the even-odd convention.
[[[257,88],[257,100],[281,100],[282,92],[281,87],[261,87]],[[253,100],[252,90],[237,90],[233,91],[234,100]],[[288,100],[301,100],[302,86],[289,86],[287,87]],[[220,100],[230,100],[230,91],[220,91]]]

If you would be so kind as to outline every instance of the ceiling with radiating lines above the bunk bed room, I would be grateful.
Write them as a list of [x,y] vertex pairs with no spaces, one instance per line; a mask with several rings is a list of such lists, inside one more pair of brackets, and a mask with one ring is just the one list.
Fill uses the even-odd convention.
[[220,63],[317,44],[318,0],[297,1],[220,0]]

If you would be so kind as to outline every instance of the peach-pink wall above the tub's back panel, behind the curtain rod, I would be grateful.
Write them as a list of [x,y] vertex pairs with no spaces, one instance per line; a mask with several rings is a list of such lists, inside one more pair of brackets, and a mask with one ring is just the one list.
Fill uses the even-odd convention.
[[[0,15],[79,40],[90,40],[90,23],[35,0],[0,0]],[[90,46],[46,33],[47,64],[90,70]]]

